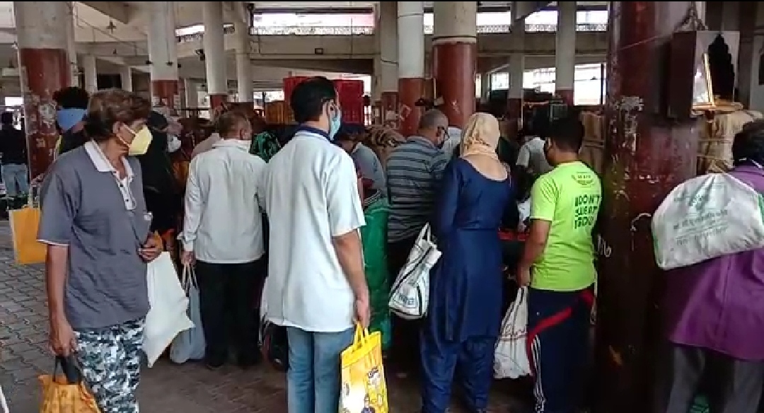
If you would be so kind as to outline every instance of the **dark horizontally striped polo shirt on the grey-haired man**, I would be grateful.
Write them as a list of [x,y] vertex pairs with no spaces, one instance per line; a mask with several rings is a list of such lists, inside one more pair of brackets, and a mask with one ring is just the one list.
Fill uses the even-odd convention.
[[387,240],[416,237],[429,222],[448,157],[424,137],[410,137],[387,158]]

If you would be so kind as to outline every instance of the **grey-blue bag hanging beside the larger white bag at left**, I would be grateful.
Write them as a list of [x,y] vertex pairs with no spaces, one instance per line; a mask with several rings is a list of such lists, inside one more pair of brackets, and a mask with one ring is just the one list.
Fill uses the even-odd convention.
[[202,360],[205,353],[204,330],[202,329],[202,311],[199,308],[199,284],[193,266],[183,266],[183,290],[189,298],[189,319],[193,327],[181,331],[170,344],[170,360],[173,363],[186,363],[188,360]]

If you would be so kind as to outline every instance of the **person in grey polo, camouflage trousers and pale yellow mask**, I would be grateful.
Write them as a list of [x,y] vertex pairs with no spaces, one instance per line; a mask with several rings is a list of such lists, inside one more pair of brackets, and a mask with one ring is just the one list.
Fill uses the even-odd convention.
[[149,111],[131,92],[93,95],[90,140],[53,163],[40,192],[50,347],[76,357],[103,412],[138,411],[146,263],[161,251],[134,157],[151,144]]

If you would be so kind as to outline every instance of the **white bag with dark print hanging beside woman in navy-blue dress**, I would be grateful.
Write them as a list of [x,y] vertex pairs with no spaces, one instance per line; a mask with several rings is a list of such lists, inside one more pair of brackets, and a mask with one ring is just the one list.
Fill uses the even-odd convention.
[[419,237],[409,253],[406,265],[400,269],[390,289],[390,311],[405,320],[416,320],[427,314],[429,303],[429,272],[441,252],[432,241],[429,224],[419,231]]

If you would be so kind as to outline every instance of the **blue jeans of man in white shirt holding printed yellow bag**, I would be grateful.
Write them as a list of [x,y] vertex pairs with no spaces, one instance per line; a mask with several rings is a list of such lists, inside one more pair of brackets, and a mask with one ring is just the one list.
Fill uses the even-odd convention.
[[286,373],[289,413],[337,413],[340,353],[353,343],[355,329],[312,333],[286,327],[289,371]]

